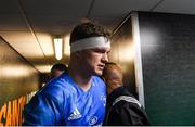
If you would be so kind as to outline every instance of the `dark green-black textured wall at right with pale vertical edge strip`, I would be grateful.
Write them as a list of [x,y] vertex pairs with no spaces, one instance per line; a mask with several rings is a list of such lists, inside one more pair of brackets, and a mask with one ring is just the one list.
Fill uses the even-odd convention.
[[[132,12],[142,103],[153,125],[195,124],[195,15]],[[139,43],[139,45],[138,45]],[[139,86],[138,85],[138,86]],[[140,94],[140,93],[139,93]],[[142,94],[142,93],[141,93]]]

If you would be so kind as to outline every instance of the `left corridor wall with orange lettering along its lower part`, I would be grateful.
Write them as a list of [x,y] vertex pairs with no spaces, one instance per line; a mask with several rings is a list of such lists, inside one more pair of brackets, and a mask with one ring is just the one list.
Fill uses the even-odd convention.
[[39,89],[39,72],[0,37],[0,126],[22,124],[24,105]]

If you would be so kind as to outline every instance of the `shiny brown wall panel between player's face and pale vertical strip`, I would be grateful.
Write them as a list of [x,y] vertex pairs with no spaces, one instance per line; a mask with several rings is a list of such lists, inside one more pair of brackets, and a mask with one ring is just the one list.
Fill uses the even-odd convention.
[[131,20],[119,24],[112,38],[112,51],[109,60],[118,63],[123,72],[123,84],[138,97],[134,76],[134,45],[132,41]]

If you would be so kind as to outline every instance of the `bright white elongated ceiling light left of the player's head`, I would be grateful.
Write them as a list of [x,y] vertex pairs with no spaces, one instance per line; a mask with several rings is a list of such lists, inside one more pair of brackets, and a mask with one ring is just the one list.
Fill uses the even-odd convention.
[[61,60],[63,58],[63,39],[60,37],[54,38],[55,58]]

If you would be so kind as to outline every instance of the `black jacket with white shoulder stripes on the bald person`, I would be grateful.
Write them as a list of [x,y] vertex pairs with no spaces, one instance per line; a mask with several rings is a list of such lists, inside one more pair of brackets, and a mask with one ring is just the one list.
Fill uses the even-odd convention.
[[107,97],[106,106],[104,125],[150,125],[145,110],[125,87],[115,89]]

